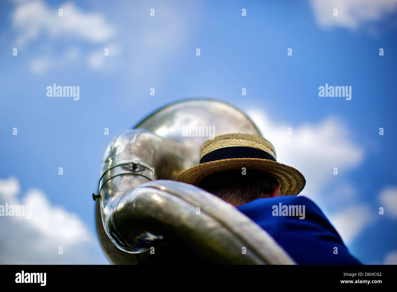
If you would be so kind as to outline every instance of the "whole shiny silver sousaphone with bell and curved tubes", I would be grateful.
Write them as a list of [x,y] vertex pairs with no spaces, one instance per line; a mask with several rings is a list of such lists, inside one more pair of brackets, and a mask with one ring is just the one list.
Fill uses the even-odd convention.
[[[211,127],[214,136],[261,135],[236,108],[197,99],[166,106],[117,136],[102,159],[96,203],[98,236],[108,259],[136,264],[135,254],[147,253],[171,236],[214,263],[293,263],[233,206],[191,185],[165,181],[198,164],[198,148],[210,137],[184,134],[183,129],[191,126]],[[196,207],[202,210],[200,217]],[[192,237],[184,232],[197,240],[187,240]],[[241,256],[243,246],[249,256]]]

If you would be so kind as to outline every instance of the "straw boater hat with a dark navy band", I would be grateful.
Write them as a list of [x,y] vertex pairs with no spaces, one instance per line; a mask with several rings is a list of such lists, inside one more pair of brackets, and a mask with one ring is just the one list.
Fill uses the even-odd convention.
[[219,135],[202,143],[200,164],[181,172],[175,180],[198,186],[210,174],[243,167],[273,176],[280,187],[279,195],[297,195],[306,184],[301,172],[276,161],[272,143],[258,135],[243,133]]

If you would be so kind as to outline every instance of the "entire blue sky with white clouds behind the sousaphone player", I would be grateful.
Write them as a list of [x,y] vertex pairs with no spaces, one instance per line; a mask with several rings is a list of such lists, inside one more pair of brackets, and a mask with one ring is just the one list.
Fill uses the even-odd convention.
[[[91,198],[106,146],[170,102],[212,97],[304,174],[301,194],[358,259],[397,263],[396,14],[395,0],[2,1],[0,198],[42,216],[0,218],[0,262],[107,263]],[[53,83],[80,99],[47,97]],[[352,99],[319,97],[326,83]]]

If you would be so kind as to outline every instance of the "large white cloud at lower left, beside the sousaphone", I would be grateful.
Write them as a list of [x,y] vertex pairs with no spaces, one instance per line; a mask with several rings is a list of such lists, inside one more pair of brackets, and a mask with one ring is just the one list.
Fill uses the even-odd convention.
[[21,199],[19,191],[16,178],[0,180],[0,205],[31,207],[31,219],[0,217],[1,264],[106,263],[98,240],[76,214],[51,205],[40,190],[29,190]]

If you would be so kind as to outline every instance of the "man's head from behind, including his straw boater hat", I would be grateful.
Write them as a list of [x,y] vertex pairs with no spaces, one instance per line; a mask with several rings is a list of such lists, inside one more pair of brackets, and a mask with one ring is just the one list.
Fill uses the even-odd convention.
[[[181,172],[175,180],[216,193],[235,206],[261,197],[297,195],[306,184],[299,170],[277,162],[272,143],[258,135],[218,135],[201,144],[199,157],[199,164]],[[242,168],[247,169],[246,175],[241,173]],[[262,172],[264,169],[268,175]]]

